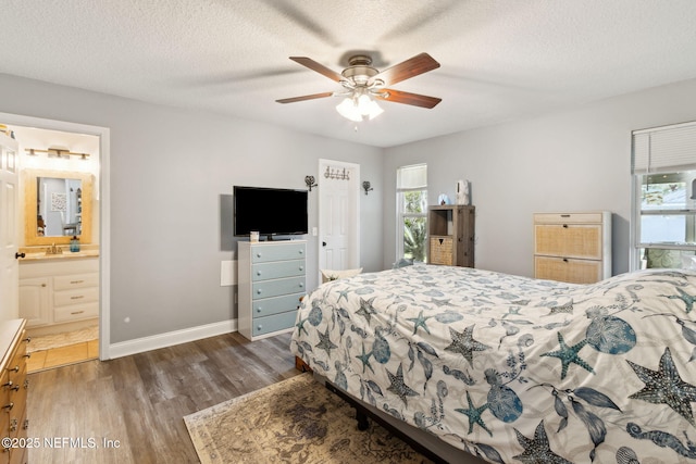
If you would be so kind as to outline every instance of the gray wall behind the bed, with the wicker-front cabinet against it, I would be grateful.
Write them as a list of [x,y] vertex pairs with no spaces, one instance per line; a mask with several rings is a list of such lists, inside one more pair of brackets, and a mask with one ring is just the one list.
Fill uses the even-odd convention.
[[[426,162],[428,198],[455,198],[471,180],[476,267],[532,276],[532,213],[613,214],[613,274],[629,271],[631,130],[696,120],[696,80],[687,80],[385,150],[384,190],[398,166]],[[465,109],[462,109],[465,111]],[[384,264],[395,260],[395,195],[385,195]]]

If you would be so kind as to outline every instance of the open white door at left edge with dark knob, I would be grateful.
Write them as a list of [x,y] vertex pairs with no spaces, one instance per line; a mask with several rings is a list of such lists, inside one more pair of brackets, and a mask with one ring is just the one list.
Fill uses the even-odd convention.
[[0,321],[20,314],[17,143],[0,134]]

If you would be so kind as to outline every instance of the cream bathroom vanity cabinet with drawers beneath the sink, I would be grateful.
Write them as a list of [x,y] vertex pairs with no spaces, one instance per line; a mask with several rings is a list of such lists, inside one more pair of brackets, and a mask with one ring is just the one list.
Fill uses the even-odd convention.
[[99,259],[22,261],[20,316],[27,327],[99,316]]

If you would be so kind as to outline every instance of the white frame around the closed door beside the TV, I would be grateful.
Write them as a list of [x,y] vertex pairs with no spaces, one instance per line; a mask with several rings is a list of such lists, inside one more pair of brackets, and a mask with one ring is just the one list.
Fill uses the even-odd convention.
[[353,195],[351,199],[351,208],[350,214],[352,215],[352,221],[350,221],[351,226],[351,237],[353,238],[353,244],[350,249],[350,256],[348,259],[349,262],[353,263],[356,267],[360,266],[360,164],[357,163],[348,163],[345,161],[336,161],[336,160],[327,160],[327,159],[319,159],[319,211],[316,212],[319,218],[319,240],[316,240],[316,273],[319,276],[319,281],[322,281],[322,239],[324,237],[324,225],[322,218],[322,205],[323,202],[326,201],[324,197],[324,191],[321,188],[322,179],[324,178],[324,173],[327,167],[340,167],[346,170],[351,170],[353,173],[353,178],[350,179],[351,184],[355,184]]

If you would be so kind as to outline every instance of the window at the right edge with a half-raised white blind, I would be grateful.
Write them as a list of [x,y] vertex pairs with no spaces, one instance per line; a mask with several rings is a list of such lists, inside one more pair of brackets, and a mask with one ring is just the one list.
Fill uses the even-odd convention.
[[696,269],[696,123],[633,133],[631,268]]

